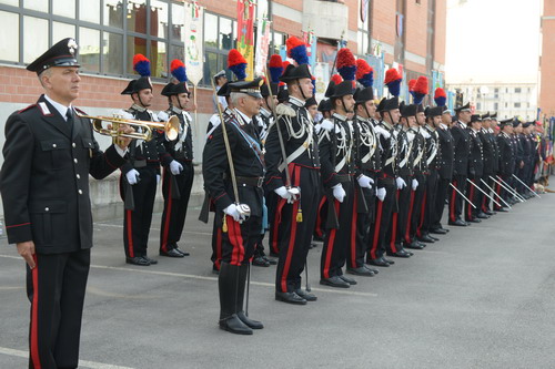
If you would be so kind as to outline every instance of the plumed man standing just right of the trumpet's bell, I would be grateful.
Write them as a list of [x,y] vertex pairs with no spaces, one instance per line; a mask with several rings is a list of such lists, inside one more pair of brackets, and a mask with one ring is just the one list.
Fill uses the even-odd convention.
[[185,111],[191,99],[186,86],[185,65],[180,60],[171,62],[171,73],[179,83],[167,85],[163,94],[170,98],[170,107],[159,114],[159,119],[168,121],[170,116],[179,119],[179,134],[173,141],[162,139],[160,161],[164,166],[162,194],[164,211],[160,229],[160,255],[183,257],[189,253],[178,247],[183,226],[185,225],[186,207],[193,186],[193,119]]

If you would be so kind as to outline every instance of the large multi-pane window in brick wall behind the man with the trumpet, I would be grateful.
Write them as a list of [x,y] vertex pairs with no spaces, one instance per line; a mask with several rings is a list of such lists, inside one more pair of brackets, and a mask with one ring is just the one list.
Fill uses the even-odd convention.
[[0,61],[23,65],[73,37],[83,72],[131,76],[133,55],[142,53],[152,78],[165,79],[170,58],[183,59],[184,18],[182,0],[0,0],[10,30]]

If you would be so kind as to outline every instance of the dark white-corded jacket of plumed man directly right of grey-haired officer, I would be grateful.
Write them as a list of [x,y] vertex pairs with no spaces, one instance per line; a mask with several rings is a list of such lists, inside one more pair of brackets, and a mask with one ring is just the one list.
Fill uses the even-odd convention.
[[[294,163],[306,168],[320,170],[320,153],[314,123],[304,107],[304,102],[291,96],[289,102],[276,106],[275,113],[278,114],[278,123],[269,127],[268,137],[264,141],[268,167],[265,185],[268,191],[285,185],[282,176],[283,171],[280,170],[280,165],[283,163],[283,154],[276,127],[282,133],[285,154],[290,164]],[[292,157],[297,150],[302,151],[302,153],[300,155],[295,154],[296,157]]]

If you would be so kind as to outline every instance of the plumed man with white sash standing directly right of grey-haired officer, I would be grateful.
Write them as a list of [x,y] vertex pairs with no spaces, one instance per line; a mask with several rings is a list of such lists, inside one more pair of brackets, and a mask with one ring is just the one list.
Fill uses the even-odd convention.
[[278,105],[278,121],[265,142],[265,188],[279,196],[274,215],[279,218],[274,218],[274,223],[280,233],[280,237],[274,238],[280,253],[275,299],[305,305],[316,300],[314,294],[301,288],[301,275],[316,221],[320,157],[314,123],[304,107],[313,93],[305,47],[296,38],[290,38],[286,43],[287,53],[295,55],[297,66],[287,65],[280,76],[280,81],[287,84],[289,100]]

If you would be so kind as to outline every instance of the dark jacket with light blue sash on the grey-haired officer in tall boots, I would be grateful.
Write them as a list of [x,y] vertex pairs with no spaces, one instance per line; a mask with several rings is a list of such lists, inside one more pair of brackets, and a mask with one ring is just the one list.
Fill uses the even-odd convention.
[[[253,121],[245,121],[239,112],[226,115],[224,120],[238,178],[239,201],[251,207],[252,216],[262,216],[261,186],[265,168],[256,129]],[[204,187],[215,203],[216,211],[222,212],[236,202],[221,124],[206,140],[202,154],[202,174]]]

